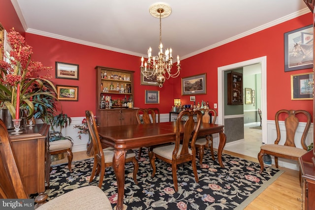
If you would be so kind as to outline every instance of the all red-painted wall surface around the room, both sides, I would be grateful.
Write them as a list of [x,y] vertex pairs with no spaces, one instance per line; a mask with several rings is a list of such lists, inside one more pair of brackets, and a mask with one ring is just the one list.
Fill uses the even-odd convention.
[[[0,1],[0,23],[6,30],[14,27],[23,33],[10,1]],[[218,103],[218,67],[267,56],[267,119],[273,120],[279,109],[303,109],[313,113],[313,100],[291,100],[290,75],[311,72],[303,69],[284,72],[284,33],[312,24],[312,13],[289,20],[269,29],[227,43],[215,49],[181,60],[180,77],[207,73],[207,94],[196,95],[196,101],[209,101],[210,106]],[[182,104],[191,103],[189,96],[181,95],[181,78],[167,80],[163,88],[140,85],[140,58],[108,50],[89,47],[40,35],[26,33],[26,41],[33,47],[33,60],[46,66],[53,66],[52,81],[59,85],[79,87],[79,101],[62,101],[63,112],[70,117],[83,117],[86,109],[95,112],[95,66],[106,66],[134,71],[134,106],[158,107],[161,113],[168,113],[174,98],[181,98]],[[147,47],[147,46],[143,46]],[[206,46],[205,46],[206,47]],[[176,50],[176,49],[175,49]],[[55,62],[79,64],[79,80],[56,79]],[[174,66],[175,67],[175,66]],[[159,90],[160,103],[144,103],[145,90]],[[220,115],[220,113],[218,113]]]

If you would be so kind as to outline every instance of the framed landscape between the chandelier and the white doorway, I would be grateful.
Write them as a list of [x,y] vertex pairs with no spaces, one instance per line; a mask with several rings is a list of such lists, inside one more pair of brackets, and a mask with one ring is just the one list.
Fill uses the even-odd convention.
[[206,94],[206,73],[182,78],[182,95]]

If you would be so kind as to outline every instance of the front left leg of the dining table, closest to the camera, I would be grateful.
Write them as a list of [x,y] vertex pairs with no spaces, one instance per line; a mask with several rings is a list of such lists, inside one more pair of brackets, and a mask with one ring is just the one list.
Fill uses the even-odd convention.
[[125,155],[126,150],[115,150],[113,156],[113,169],[116,175],[118,186],[118,199],[116,210],[123,210],[125,194]]

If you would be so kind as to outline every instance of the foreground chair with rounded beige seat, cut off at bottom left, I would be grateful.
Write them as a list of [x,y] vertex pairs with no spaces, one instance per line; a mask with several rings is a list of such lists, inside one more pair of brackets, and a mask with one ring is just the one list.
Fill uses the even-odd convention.
[[[0,139],[0,198],[29,199],[17,167],[16,154],[12,150],[9,134],[2,120],[0,120]],[[37,210],[64,210],[70,207],[71,209],[112,210],[105,193],[94,185],[80,187],[60,195],[38,206]]]

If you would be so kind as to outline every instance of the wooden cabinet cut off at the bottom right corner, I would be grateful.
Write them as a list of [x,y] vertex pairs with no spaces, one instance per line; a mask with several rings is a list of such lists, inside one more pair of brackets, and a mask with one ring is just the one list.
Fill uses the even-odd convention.
[[313,150],[299,158],[299,166],[302,174],[302,209],[315,209],[315,167],[312,161]]

